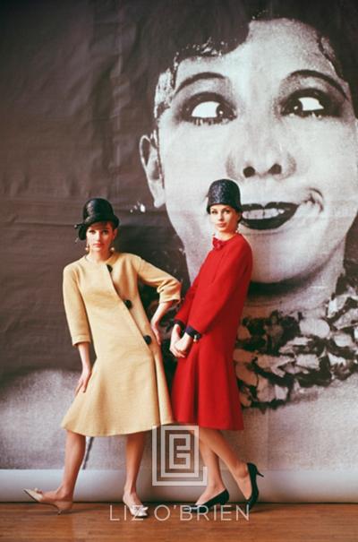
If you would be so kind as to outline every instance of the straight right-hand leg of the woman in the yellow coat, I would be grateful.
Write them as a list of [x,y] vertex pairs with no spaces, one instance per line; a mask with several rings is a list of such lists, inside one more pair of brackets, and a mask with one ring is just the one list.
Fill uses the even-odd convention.
[[124,482],[124,500],[129,506],[132,504],[141,504],[141,500],[137,495],[136,484],[138,472],[141,467],[145,438],[145,432],[127,434],[125,448],[126,477]]

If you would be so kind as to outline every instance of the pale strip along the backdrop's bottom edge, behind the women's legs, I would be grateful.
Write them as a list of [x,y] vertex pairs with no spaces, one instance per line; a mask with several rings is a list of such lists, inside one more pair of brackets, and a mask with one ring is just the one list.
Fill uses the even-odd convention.
[[[0,502],[30,501],[24,487],[44,491],[59,485],[62,469],[0,469]],[[269,503],[358,503],[358,469],[263,470],[258,477],[260,501]],[[234,480],[224,470],[231,501],[243,501]],[[75,501],[120,502],[123,470],[81,470]],[[185,502],[196,499],[202,486],[152,486],[151,469],[142,468],[138,492],[149,502]]]

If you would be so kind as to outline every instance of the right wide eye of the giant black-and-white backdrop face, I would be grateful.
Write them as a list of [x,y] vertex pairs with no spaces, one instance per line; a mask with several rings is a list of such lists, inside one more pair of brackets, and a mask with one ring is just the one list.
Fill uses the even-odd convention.
[[298,90],[286,100],[283,115],[294,116],[339,116],[339,104],[324,92],[317,89]]

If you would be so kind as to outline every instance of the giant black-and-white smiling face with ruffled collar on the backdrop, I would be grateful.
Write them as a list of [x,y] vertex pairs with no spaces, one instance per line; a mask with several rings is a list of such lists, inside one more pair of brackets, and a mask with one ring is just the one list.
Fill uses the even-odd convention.
[[261,407],[357,369],[356,258],[347,257],[358,208],[356,82],[335,23],[324,33],[313,9],[306,20],[281,4],[251,19],[231,4],[232,20],[220,13],[225,36],[220,14],[205,10],[208,33],[195,29],[159,74],[153,130],[141,138],[154,204],[166,206],[191,278],[209,248],[210,180],[240,187],[254,270],[236,367],[243,401]]

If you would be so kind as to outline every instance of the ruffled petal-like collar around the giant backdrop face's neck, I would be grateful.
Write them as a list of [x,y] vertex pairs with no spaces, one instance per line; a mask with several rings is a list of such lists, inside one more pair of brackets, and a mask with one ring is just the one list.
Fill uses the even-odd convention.
[[243,319],[234,349],[243,407],[308,398],[358,371],[357,268],[345,262],[336,292],[316,309]]

